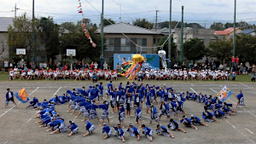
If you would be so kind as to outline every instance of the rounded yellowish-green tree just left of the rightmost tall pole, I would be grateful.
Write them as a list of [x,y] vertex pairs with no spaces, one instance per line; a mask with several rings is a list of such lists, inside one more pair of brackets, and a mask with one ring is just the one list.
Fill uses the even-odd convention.
[[223,63],[223,60],[230,59],[232,55],[231,40],[226,41],[224,39],[218,39],[215,42],[210,42],[208,47],[211,50],[211,56],[217,57],[218,60],[221,60],[222,63]]

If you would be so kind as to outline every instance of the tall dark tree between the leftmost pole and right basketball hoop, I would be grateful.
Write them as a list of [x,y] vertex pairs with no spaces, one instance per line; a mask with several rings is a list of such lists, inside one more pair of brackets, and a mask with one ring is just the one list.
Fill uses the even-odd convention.
[[46,55],[49,61],[55,60],[55,56],[60,54],[59,26],[52,18],[41,17],[38,30],[41,39],[45,42]]

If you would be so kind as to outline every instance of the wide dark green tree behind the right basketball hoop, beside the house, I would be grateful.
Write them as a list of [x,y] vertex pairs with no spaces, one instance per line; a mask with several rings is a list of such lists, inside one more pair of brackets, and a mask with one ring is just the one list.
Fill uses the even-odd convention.
[[72,32],[61,37],[61,53],[66,54],[66,49],[76,49],[76,59],[99,60],[101,55],[101,37],[95,34],[96,29],[88,29],[90,37],[96,43],[96,48],[91,46],[90,40],[84,36],[84,32]]

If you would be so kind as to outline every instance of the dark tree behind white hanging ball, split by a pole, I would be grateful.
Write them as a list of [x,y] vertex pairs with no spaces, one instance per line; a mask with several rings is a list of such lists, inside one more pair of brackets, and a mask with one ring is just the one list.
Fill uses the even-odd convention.
[[[156,53],[158,52],[158,50],[163,49],[163,50],[166,51],[166,58],[168,58],[168,41],[166,41],[166,39],[167,39],[167,36],[162,37],[162,38],[160,39],[160,42],[157,44],[157,46],[162,46],[163,43],[165,43],[165,42],[166,42],[166,43],[164,44],[164,46],[163,46],[162,48],[158,48],[157,51],[156,51]],[[172,41],[173,41],[173,37],[172,37]],[[171,58],[172,58],[172,61],[175,60],[176,57],[177,57],[177,45],[172,42],[172,49],[171,49]]]

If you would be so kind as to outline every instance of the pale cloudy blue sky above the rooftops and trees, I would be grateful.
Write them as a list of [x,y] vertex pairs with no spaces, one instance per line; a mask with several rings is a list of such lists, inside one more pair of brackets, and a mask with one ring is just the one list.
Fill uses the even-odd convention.
[[[32,0],[0,1],[0,17],[14,17],[15,3],[17,15],[26,13],[32,17]],[[80,0],[84,18],[99,24],[102,0]],[[172,0],[172,20],[181,20],[181,7],[184,6],[184,22],[199,23],[210,27],[215,22],[234,21],[235,0]],[[256,24],[256,1],[236,0],[236,21]],[[35,0],[36,17],[53,17],[56,23],[82,20],[78,13],[78,0]],[[129,22],[147,19],[150,22],[169,20],[170,0],[104,0],[104,17],[116,22]],[[121,17],[121,19],[119,19]]]

